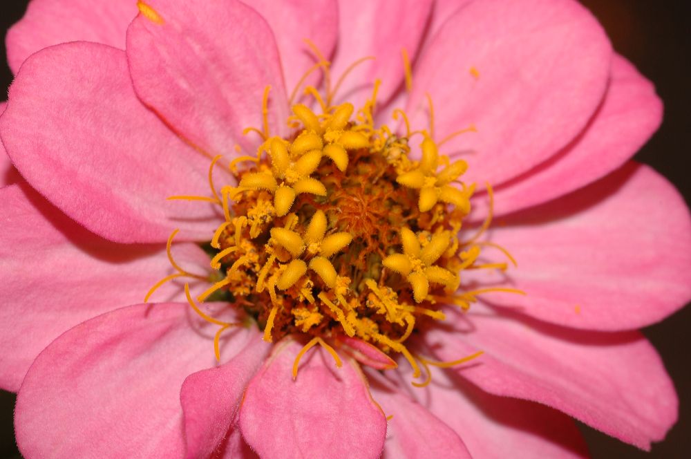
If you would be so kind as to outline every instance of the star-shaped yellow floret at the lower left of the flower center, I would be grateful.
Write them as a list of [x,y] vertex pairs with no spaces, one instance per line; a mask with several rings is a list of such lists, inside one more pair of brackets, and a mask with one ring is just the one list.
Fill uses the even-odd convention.
[[273,243],[283,247],[292,256],[292,260],[276,282],[279,290],[292,287],[307,272],[307,263],[301,256],[309,259],[309,269],[316,272],[328,288],[336,286],[336,269],[329,259],[347,247],[352,241],[352,236],[347,232],[325,236],[327,225],[324,212],[317,210],[302,236],[287,228],[271,229]]

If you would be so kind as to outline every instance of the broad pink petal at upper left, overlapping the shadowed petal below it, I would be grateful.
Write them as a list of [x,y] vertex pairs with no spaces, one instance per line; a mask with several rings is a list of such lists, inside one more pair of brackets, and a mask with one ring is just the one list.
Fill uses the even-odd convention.
[[33,55],[10,88],[0,135],[28,182],[84,227],[117,242],[209,239],[207,158],[184,145],[140,104],[125,55],[76,42]]

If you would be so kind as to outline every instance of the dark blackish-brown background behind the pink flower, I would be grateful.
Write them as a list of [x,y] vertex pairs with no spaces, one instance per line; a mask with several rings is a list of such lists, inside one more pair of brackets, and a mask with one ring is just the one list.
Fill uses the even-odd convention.
[[[135,1],[135,0],[131,0]],[[6,30],[26,10],[27,0],[0,0],[0,29]],[[686,0],[582,0],[605,26],[614,48],[650,78],[665,102],[661,129],[636,155],[670,179],[691,200],[691,18]],[[4,41],[0,55],[5,56]],[[0,86],[12,74],[0,64]],[[6,100],[6,97],[2,97]],[[632,229],[634,230],[634,229]],[[665,263],[660,260],[660,263]],[[679,422],[652,453],[583,426],[594,458],[691,458],[691,308],[663,324],[643,330],[661,353],[680,398]],[[0,458],[19,458],[12,431],[13,394],[0,391]]]

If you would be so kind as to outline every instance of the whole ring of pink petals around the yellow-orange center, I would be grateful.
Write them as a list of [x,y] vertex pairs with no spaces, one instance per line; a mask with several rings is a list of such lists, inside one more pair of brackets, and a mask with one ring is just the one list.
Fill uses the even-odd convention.
[[[10,30],[17,77],[0,136],[21,178],[0,189],[0,386],[19,393],[24,456],[583,456],[569,416],[643,449],[664,438],[676,394],[636,329],[690,299],[691,220],[664,178],[629,161],[661,103],[594,18],[569,0],[251,3],[151,0],[131,21],[130,1],[34,0]],[[243,129],[262,126],[267,84],[265,131],[290,137],[290,93],[314,64],[305,37],[333,75],[377,57],[334,104],[361,106],[381,78],[381,120],[402,106],[427,127],[429,93],[430,137],[477,127],[443,149],[471,165],[464,181],[495,185],[491,241],[520,268],[462,287],[501,281],[527,296],[444,307],[410,347],[484,354],[432,368],[424,388],[408,386],[404,359],[380,372],[338,348],[335,368],[327,346],[294,380],[299,337],[274,346],[255,325],[220,335],[216,364],[218,327],[179,284],[155,292],[168,302],[140,304],[171,274],[173,228],[180,269],[209,276],[193,242],[210,241],[223,212],[167,198],[209,194],[202,153],[256,151]],[[475,226],[485,203],[477,193]]]

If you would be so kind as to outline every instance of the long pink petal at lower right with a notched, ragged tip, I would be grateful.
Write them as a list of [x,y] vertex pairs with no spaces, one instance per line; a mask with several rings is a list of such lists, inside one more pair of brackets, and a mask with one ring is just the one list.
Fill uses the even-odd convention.
[[573,330],[474,308],[450,311],[453,332],[430,330],[426,341],[444,361],[483,350],[457,371],[485,391],[552,406],[643,449],[676,422],[674,385],[640,333]]

